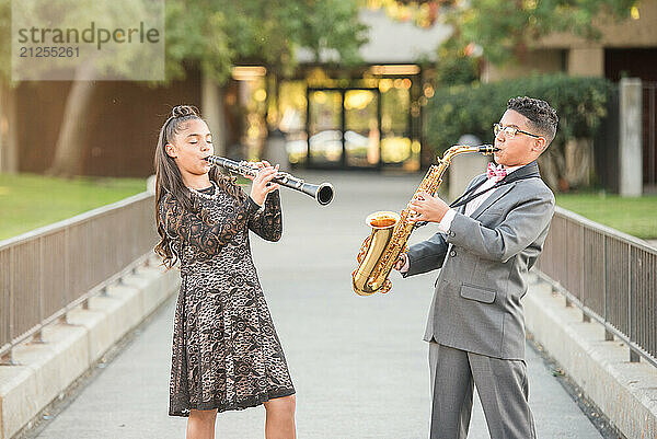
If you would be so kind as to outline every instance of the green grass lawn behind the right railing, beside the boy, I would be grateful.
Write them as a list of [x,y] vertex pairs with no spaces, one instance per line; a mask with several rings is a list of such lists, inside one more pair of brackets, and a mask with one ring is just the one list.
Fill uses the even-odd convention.
[[633,236],[657,239],[657,195],[556,194],[557,206]]

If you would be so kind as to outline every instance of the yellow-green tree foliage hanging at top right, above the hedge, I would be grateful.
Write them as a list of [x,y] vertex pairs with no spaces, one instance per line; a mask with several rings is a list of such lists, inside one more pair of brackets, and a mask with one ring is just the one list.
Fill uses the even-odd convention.
[[573,33],[600,37],[600,26],[637,12],[638,0],[369,0],[389,16],[428,27],[452,27],[437,48],[438,85],[473,82],[479,63],[521,60],[541,38]]

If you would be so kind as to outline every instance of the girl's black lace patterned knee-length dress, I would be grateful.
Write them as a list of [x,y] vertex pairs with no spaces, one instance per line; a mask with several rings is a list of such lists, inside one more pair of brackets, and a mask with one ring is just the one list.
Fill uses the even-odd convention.
[[[232,183],[227,183],[232,185]],[[209,224],[166,194],[160,221],[181,261],[173,330],[171,416],[189,409],[243,409],[295,393],[251,257],[249,230],[268,241],[283,231],[278,192],[261,208],[242,189],[212,183],[192,190]]]

